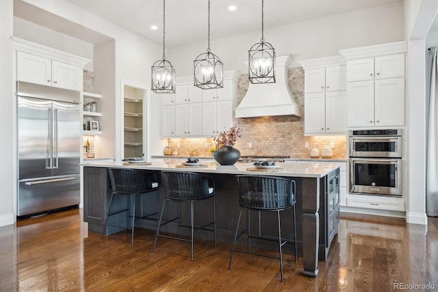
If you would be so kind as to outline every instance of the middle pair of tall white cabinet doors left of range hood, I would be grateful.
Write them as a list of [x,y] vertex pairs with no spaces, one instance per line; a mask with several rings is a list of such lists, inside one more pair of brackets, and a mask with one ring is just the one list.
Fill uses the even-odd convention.
[[201,103],[175,106],[175,136],[201,136]]

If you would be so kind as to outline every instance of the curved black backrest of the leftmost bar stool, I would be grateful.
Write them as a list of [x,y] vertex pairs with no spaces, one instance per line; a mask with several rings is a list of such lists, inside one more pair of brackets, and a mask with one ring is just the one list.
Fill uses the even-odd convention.
[[158,182],[158,176],[152,171],[142,169],[108,169],[110,182],[114,193],[147,193],[156,189],[153,182]]

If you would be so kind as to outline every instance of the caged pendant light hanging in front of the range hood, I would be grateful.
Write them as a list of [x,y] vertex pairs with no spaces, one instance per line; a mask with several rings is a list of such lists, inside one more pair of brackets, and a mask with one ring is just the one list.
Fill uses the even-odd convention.
[[261,0],[261,40],[248,51],[248,75],[251,83],[275,83],[275,50],[263,38],[263,0]]

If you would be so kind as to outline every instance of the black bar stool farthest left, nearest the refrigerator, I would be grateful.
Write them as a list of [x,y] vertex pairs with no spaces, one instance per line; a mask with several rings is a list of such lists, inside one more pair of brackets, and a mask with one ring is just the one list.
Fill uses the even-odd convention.
[[[129,199],[133,198],[132,203],[132,234],[131,234],[131,245],[134,243],[134,226],[136,219],[151,219],[158,221],[158,180],[159,177],[156,172],[146,171],[142,169],[108,169],[108,174],[110,175],[110,182],[112,186],[112,195],[110,198],[110,205],[108,206],[107,215],[105,217],[105,224],[103,225],[103,230],[101,233],[101,238],[105,232],[107,226],[114,226],[119,228],[129,228],[127,226],[118,226],[108,223],[108,218],[120,214],[121,212],[127,212],[127,218],[129,221],[131,208],[118,208],[117,210],[112,210],[114,195],[128,195]],[[137,195],[145,195],[155,191],[157,196],[157,211],[142,217],[136,216],[136,197]],[[131,205],[131,204],[129,204]]]

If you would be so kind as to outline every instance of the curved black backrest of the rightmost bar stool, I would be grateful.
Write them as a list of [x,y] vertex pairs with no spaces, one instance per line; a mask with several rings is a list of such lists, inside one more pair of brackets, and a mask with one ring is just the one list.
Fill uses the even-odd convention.
[[284,210],[295,204],[295,181],[263,175],[237,175],[239,204],[255,210]]

